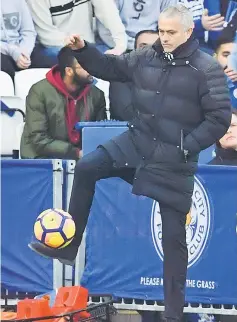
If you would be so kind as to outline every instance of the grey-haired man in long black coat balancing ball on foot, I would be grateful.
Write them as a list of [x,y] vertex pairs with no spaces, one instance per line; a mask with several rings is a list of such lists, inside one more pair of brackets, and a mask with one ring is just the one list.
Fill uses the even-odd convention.
[[45,256],[73,263],[81,242],[96,181],[120,177],[133,193],[159,201],[164,251],[167,321],[180,321],[188,263],[185,222],[190,210],[198,154],[227,131],[231,110],[222,68],[198,49],[192,14],[182,5],[163,11],[160,41],[122,56],[102,55],[79,36],[70,37],[79,63],[107,81],[133,83],[137,115],[128,131],[83,157],[76,165],[69,213],[76,237],[64,249],[38,243]]

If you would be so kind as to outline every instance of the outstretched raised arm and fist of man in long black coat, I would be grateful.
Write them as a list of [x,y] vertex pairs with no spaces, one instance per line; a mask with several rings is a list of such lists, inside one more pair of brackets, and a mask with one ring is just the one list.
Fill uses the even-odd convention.
[[101,54],[93,45],[78,35],[69,38],[67,45],[75,52],[79,64],[91,75],[106,81],[128,82],[138,63],[139,54],[131,52],[121,56]]

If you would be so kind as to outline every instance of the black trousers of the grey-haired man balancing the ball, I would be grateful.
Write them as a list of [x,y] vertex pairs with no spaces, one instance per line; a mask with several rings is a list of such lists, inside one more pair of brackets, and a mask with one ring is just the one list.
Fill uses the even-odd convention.
[[[69,213],[76,224],[74,245],[79,246],[85,230],[95,192],[100,179],[119,177],[132,184],[135,169],[115,168],[105,149],[99,148],[78,161],[69,205]],[[162,243],[164,252],[165,317],[180,321],[184,306],[186,271],[186,214],[160,204]]]

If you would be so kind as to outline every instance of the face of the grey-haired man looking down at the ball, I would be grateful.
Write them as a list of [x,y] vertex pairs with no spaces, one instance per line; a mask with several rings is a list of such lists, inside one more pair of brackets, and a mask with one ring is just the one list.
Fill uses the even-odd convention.
[[185,43],[192,34],[192,28],[185,30],[180,18],[159,18],[159,37],[165,52],[172,52]]

